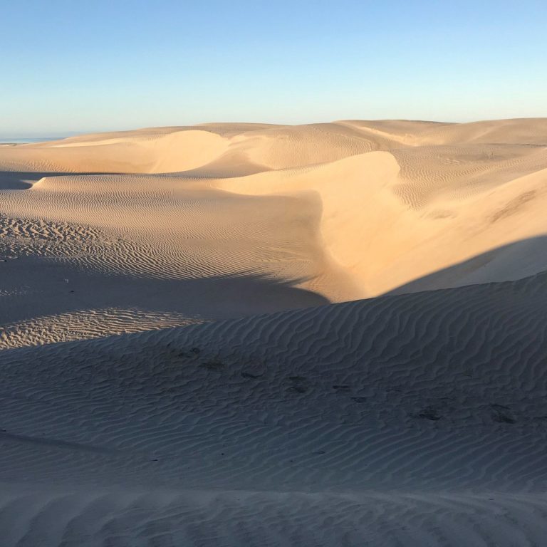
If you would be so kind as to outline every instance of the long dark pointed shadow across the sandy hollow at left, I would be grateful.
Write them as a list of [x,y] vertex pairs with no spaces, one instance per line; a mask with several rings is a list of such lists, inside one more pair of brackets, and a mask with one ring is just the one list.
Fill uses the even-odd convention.
[[[37,268],[42,275],[36,276]],[[330,303],[320,294],[299,288],[303,281],[249,272],[189,279],[89,274],[66,263],[21,256],[0,262],[0,286],[6,295],[0,325],[112,308],[224,319]],[[33,290],[21,291],[24,286]]]

